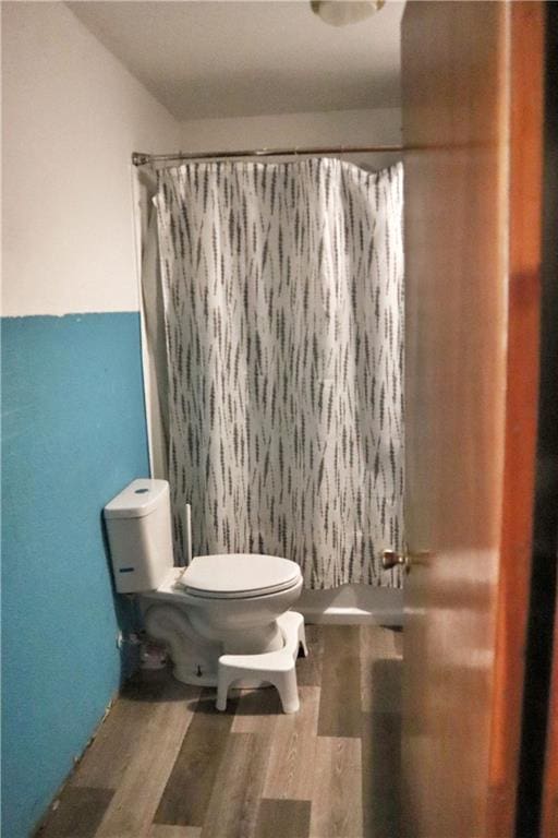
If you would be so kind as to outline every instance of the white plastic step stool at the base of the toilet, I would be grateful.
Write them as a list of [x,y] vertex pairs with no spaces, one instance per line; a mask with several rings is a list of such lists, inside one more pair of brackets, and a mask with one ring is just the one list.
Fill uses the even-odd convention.
[[294,665],[302,646],[304,657],[308,656],[304,618],[298,611],[287,611],[277,619],[284,638],[284,646],[277,651],[263,655],[221,655],[217,674],[217,709],[227,709],[227,694],[234,681],[255,678],[277,687],[283,713],[299,709],[299,689]]

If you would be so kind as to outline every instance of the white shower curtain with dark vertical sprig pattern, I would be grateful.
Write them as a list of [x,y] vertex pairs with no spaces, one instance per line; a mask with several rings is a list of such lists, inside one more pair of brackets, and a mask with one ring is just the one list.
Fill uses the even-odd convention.
[[400,585],[380,551],[403,528],[402,178],[336,159],[159,172],[179,559],[191,503],[194,555]]

